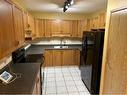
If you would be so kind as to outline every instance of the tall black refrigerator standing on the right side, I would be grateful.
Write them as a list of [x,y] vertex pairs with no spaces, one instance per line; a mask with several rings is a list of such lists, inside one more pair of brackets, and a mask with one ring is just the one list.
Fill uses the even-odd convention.
[[81,77],[91,94],[99,94],[104,31],[84,32],[81,51]]

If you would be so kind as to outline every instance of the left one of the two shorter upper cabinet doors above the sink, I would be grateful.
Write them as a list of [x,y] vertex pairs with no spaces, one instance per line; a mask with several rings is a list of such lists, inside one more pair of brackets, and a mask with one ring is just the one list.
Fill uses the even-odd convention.
[[59,36],[61,35],[61,21],[59,20],[52,20],[51,23],[51,31],[52,31],[52,36]]

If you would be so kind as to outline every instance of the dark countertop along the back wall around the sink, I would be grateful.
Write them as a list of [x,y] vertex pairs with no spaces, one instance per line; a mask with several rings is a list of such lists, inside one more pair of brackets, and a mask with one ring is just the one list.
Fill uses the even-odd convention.
[[54,46],[59,46],[59,45],[31,45],[27,50],[26,50],[26,55],[29,54],[44,54],[45,49],[79,49],[81,50],[81,45],[80,44],[68,44],[64,46],[68,46],[68,48],[54,48]]

